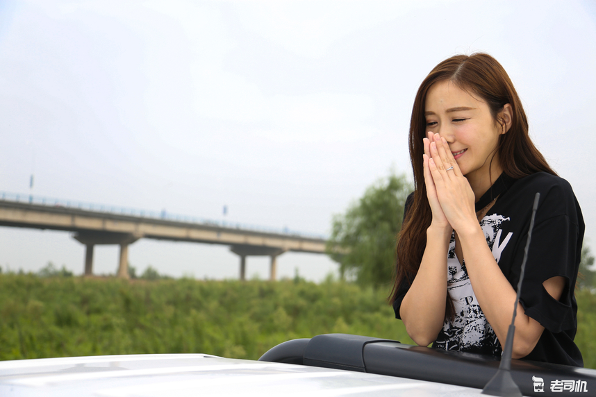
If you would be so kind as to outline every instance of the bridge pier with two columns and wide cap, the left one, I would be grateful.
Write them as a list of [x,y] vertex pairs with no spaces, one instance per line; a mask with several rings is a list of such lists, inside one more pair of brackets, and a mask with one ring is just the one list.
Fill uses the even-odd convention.
[[120,257],[118,262],[117,277],[129,278],[129,244],[137,241],[141,235],[132,233],[113,233],[101,231],[82,231],[74,236],[78,242],[87,246],[85,253],[85,276],[93,274],[93,247],[95,244],[119,244]]

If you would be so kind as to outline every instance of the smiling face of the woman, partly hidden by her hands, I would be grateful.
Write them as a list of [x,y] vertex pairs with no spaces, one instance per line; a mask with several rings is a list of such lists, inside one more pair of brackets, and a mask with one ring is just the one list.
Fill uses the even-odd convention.
[[[508,108],[511,105],[505,105],[504,112],[499,115],[505,121],[507,116],[503,113]],[[474,185],[486,185],[488,189],[490,181],[495,182],[502,172],[497,143],[499,135],[506,132],[506,127],[503,128],[492,118],[488,104],[451,81],[439,81],[429,88],[424,115],[427,119],[427,135],[432,132],[445,137],[472,188]]]

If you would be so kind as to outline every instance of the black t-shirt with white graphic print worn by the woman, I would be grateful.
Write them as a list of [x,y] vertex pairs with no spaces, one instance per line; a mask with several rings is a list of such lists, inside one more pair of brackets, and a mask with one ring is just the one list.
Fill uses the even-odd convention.
[[[524,360],[583,366],[581,353],[573,339],[577,331],[574,287],[581,258],[584,224],[581,209],[569,183],[545,172],[519,180],[502,174],[477,203],[477,207],[481,204],[482,208],[486,205],[484,203],[498,195],[495,204],[481,220],[481,228],[499,268],[513,289],[517,290],[536,192],[540,192],[540,201],[520,303],[525,314],[538,321],[545,330],[536,347]],[[500,355],[499,341],[475,302],[465,262],[459,264],[454,255],[453,237],[447,255],[449,296],[456,306],[456,317],[454,321],[445,322],[433,346]],[[559,301],[552,298],[543,287],[545,280],[555,276],[565,279]],[[400,318],[399,307],[409,285],[407,281],[402,283],[393,303],[397,319]]]

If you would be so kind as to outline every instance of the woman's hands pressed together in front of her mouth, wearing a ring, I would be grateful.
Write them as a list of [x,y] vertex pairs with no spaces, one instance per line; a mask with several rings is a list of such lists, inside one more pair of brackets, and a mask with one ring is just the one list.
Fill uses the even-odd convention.
[[432,225],[458,231],[472,220],[477,222],[474,192],[445,138],[429,132],[423,142],[424,183],[433,213]]

